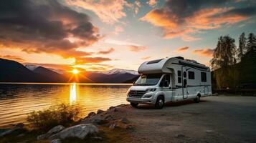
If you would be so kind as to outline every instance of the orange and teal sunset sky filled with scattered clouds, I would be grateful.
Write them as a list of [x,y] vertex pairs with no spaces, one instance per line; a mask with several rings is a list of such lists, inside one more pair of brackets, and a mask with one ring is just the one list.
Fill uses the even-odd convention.
[[209,64],[221,35],[255,32],[256,2],[46,0],[0,2],[0,58],[87,71],[138,69],[184,56]]

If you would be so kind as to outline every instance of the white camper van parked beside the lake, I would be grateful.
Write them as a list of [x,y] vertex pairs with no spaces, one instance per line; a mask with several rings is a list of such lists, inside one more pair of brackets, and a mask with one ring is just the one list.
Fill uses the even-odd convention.
[[146,61],[138,73],[141,77],[127,92],[133,107],[146,103],[161,109],[166,102],[200,102],[201,97],[212,95],[209,67],[181,56]]

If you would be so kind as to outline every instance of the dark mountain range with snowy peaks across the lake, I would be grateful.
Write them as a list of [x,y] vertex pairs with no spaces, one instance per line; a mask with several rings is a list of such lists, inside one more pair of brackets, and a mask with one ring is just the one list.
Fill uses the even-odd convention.
[[138,78],[138,72],[126,69],[82,71],[78,77],[75,79],[72,74],[61,69],[23,65],[17,61],[0,58],[0,82],[131,83]]

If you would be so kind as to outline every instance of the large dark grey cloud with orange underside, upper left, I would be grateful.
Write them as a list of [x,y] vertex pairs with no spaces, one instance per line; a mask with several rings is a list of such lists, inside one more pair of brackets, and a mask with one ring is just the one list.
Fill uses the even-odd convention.
[[89,56],[77,48],[90,46],[100,38],[86,14],[55,0],[0,1],[0,31],[0,48],[65,58]]

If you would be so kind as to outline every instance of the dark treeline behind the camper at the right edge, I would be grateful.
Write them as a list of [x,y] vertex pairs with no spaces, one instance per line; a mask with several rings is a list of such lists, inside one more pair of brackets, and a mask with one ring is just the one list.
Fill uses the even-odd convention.
[[256,36],[242,33],[238,47],[230,36],[220,36],[210,61],[214,89],[256,87]]

